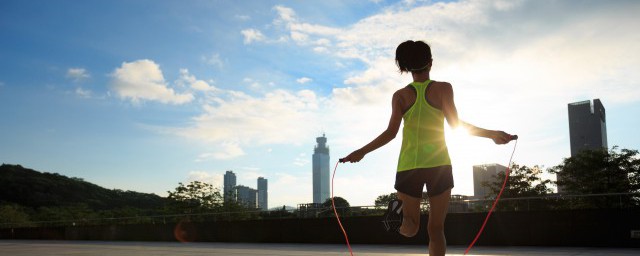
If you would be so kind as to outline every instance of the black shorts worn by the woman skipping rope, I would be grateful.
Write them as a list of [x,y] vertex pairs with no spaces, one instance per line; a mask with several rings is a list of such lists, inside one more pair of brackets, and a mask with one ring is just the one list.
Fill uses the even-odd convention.
[[453,188],[451,165],[397,172],[394,188],[412,197],[422,198],[422,189],[425,184],[429,197],[440,195]]

